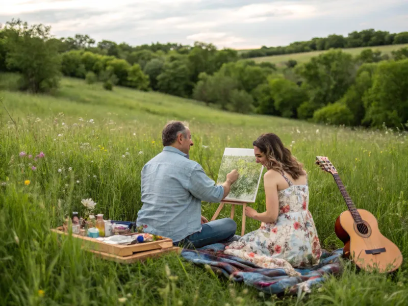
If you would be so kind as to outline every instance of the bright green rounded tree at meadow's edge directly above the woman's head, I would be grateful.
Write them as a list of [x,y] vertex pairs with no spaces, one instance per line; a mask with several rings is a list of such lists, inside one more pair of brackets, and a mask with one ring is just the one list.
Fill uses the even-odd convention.
[[297,108],[308,100],[308,93],[295,83],[276,78],[269,81],[274,106],[283,117],[296,118]]

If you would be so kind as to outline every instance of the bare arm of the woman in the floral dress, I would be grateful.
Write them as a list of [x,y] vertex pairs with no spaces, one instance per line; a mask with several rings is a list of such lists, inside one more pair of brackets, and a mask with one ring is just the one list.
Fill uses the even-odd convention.
[[258,213],[253,208],[246,207],[246,216],[266,223],[273,223],[276,221],[279,213],[279,200],[277,196],[277,184],[274,180],[274,174],[275,173],[272,171],[268,171],[264,175],[266,212]]

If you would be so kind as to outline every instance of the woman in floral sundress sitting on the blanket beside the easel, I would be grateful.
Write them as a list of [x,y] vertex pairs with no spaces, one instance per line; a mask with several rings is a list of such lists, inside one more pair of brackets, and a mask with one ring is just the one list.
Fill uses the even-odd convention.
[[293,267],[317,265],[320,259],[320,242],[308,210],[307,173],[275,134],[260,136],[253,150],[257,163],[268,170],[264,175],[266,212],[247,207],[245,215],[261,221],[261,227],[228,245],[225,253],[298,275]]

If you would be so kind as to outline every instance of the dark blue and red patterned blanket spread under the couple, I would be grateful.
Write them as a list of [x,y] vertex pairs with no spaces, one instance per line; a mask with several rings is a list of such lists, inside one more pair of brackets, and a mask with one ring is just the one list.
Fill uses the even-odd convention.
[[300,276],[289,276],[284,269],[265,269],[239,257],[225,254],[225,245],[216,243],[197,250],[183,249],[182,256],[189,262],[210,266],[218,274],[234,282],[243,282],[269,294],[299,294],[311,292],[312,286],[321,285],[325,275],[341,274],[340,259],[343,249],[333,252],[322,250],[320,263],[312,268],[295,269]]

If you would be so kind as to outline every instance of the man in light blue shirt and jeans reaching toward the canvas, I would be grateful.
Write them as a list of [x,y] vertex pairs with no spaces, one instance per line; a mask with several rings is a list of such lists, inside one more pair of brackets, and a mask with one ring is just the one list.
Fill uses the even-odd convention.
[[193,145],[188,127],[170,121],[162,132],[163,151],[142,169],[143,206],[136,225],[145,233],[169,237],[174,244],[196,248],[226,242],[235,236],[233,219],[208,222],[201,216],[201,201],[219,202],[237,181],[233,170],[222,185],[215,186],[195,161],[189,159]]

